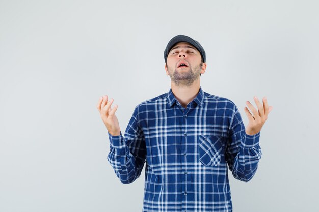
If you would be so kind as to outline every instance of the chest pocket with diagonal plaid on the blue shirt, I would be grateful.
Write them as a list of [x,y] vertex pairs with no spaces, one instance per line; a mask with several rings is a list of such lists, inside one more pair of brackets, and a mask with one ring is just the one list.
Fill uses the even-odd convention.
[[205,166],[217,166],[224,156],[224,142],[222,136],[199,135],[199,161]]

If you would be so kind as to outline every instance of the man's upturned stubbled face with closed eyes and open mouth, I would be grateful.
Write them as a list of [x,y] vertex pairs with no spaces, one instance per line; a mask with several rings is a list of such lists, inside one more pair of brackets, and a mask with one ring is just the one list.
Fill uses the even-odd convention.
[[179,86],[191,86],[204,73],[205,68],[200,52],[187,42],[179,42],[173,46],[165,65],[166,74]]

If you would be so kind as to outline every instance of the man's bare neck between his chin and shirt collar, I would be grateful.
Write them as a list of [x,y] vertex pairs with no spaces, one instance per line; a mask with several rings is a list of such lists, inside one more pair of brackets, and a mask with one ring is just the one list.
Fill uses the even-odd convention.
[[191,86],[179,86],[171,81],[172,92],[178,102],[183,106],[187,105],[194,100],[200,88],[200,80],[194,81]]

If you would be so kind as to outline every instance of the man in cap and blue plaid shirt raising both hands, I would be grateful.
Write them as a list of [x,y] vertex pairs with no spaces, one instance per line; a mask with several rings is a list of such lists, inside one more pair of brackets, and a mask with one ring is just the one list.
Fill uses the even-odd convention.
[[249,181],[261,158],[260,130],[272,106],[264,97],[258,109],[246,102],[245,128],[236,105],[200,87],[206,70],[203,47],[188,36],[172,38],[164,52],[168,93],[135,107],[123,136],[111,109],[97,109],[110,139],[108,161],[122,183],[132,183],[145,167],[143,211],[232,211],[228,168]]

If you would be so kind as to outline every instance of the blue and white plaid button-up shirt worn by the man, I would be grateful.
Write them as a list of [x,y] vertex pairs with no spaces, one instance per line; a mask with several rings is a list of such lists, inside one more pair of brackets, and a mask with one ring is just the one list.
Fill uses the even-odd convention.
[[108,161],[122,183],[145,165],[143,211],[232,211],[228,168],[255,174],[260,132],[247,135],[237,106],[203,92],[183,108],[172,93],[136,106],[125,135],[112,136]]

